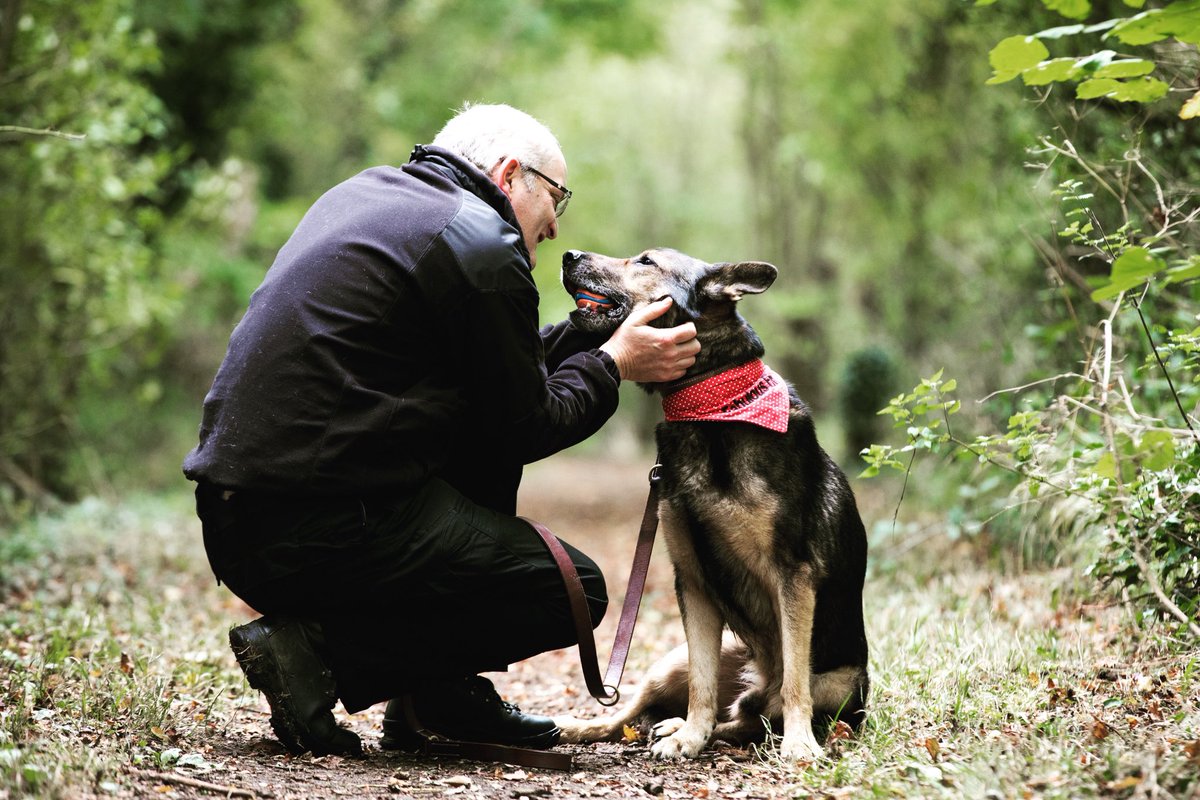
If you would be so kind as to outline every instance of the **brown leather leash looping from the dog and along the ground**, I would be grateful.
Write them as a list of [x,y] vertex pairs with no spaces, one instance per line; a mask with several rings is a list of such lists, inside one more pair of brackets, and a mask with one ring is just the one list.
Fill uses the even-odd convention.
[[[620,699],[620,691],[618,690],[620,676],[625,672],[629,646],[634,640],[634,625],[637,622],[637,610],[642,604],[642,590],[646,588],[646,575],[650,566],[654,535],[659,529],[659,481],[662,480],[659,474],[661,464],[655,464],[650,469],[650,491],[646,498],[646,511],[642,513],[642,527],[637,534],[634,563],[629,569],[629,585],[625,589],[625,602],[620,609],[620,620],[617,622],[617,636],[612,644],[612,654],[608,656],[608,669],[604,678],[600,676],[595,636],[592,632],[592,613],[588,610],[588,600],[583,593],[583,583],[580,581],[580,573],[575,569],[575,563],[571,561],[571,557],[548,528],[527,517],[517,517],[538,533],[554,558],[554,563],[558,565],[558,571],[563,576],[563,585],[566,588],[566,601],[571,609],[571,619],[575,622],[575,631],[580,643],[580,666],[583,668],[583,681],[587,684],[588,692],[601,705],[613,705]],[[569,771],[574,768],[574,759],[570,753],[445,739],[421,724],[416,717],[416,711],[413,709],[412,696],[406,694],[403,697],[403,708],[408,727],[422,739],[420,752],[426,756],[472,758],[481,762],[503,762],[518,766],[563,771]]]

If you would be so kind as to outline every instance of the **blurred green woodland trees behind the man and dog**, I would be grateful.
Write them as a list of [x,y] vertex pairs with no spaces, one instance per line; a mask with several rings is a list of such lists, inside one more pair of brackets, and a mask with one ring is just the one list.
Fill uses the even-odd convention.
[[[566,152],[576,199],[539,258],[545,321],[570,307],[566,248],[770,260],[780,281],[743,313],[852,473],[887,435],[874,411],[938,368],[971,398],[959,425],[1002,429],[1030,398],[974,401],[1078,372],[1111,312],[1090,293],[1114,253],[1058,231],[1190,213],[1195,47],[1097,26],[1144,5],[0,0],[0,507],[182,488],[229,331],[292,227],[467,100],[529,110]],[[1046,56],[1004,65],[1024,90],[989,86],[1013,36]],[[1100,47],[1104,65],[1148,59],[1169,92],[1080,100],[1081,72],[1042,64]],[[1192,252],[1188,224],[1171,233]],[[1192,287],[1151,296],[1152,321],[1194,326]],[[1114,324],[1145,342],[1135,321]],[[658,416],[628,389],[583,447],[641,455]],[[1013,481],[934,471],[922,491],[954,525],[1000,527],[977,493],[1009,504]]]

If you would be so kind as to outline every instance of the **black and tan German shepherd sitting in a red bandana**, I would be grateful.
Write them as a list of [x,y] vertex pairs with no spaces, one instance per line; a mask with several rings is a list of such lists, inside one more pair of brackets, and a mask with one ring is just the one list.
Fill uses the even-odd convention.
[[712,740],[761,740],[769,724],[782,727],[780,754],[805,762],[823,753],[815,724],[857,729],[865,718],[863,522],[809,408],[762,365],[763,344],[737,312],[776,275],[762,261],[708,264],[662,248],[563,255],[576,327],[611,332],[670,296],[653,324],[692,321],[701,343],[680,380],[643,385],[667,411],[655,431],[659,515],[686,644],[617,715],[557,717],[564,742],[618,739],[648,721],[653,757],[695,758]]

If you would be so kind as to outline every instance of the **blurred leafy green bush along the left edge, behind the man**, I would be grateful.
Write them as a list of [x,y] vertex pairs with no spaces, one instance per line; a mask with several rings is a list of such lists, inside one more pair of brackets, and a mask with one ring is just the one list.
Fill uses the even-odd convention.
[[0,122],[83,138],[0,133],[0,483],[70,494],[80,385],[168,313],[156,203],[175,155],[130,0],[13,10]]

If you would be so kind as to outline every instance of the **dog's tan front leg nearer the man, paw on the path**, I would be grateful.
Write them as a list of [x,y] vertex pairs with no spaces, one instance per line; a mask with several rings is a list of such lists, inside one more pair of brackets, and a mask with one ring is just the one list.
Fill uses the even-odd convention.
[[655,758],[695,758],[716,724],[724,620],[698,587],[679,588],[679,609],[688,639],[688,718],[682,724],[679,720],[659,723],[655,732],[671,735],[650,748]]

